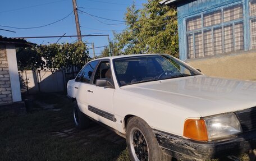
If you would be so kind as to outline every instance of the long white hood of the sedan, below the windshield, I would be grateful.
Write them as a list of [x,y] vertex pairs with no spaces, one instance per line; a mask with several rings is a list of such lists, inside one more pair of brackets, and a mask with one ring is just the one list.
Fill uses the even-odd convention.
[[141,98],[199,113],[201,117],[256,106],[256,82],[189,76],[127,85],[122,89]]

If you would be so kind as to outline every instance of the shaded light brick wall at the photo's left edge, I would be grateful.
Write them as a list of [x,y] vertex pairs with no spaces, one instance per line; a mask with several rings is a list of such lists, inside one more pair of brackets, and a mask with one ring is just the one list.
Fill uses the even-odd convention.
[[12,103],[12,91],[6,46],[4,44],[0,44],[0,104],[4,103]]

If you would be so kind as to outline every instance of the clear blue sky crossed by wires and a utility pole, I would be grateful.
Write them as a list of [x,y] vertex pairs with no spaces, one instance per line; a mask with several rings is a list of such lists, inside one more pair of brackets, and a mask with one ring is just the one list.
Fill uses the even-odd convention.
[[[106,19],[124,21],[126,8],[130,7],[132,0],[76,0],[79,10],[89,13],[90,15],[103,17]],[[136,0],[137,8],[141,8],[147,0]],[[2,10],[0,11],[0,29],[15,31],[11,33],[0,30],[0,35],[7,37],[28,37],[28,36],[60,36],[76,35],[76,25],[72,0],[8,0],[1,2]],[[70,14],[71,13],[71,14]],[[113,30],[120,33],[125,29],[122,22],[110,21],[92,17],[86,13],[79,12],[79,21],[81,34],[109,34],[113,39]],[[68,16],[69,15],[69,16]],[[66,17],[67,16],[67,17]],[[66,17],[66,19],[63,19]],[[13,29],[10,27],[28,28],[37,27],[61,20],[55,24],[35,29]],[[108,24],[108,25],[107,25]],[[10,27],[3,27],[10,26]],[[29,42],[36,44],[56,43],[58,38],[40,38],[27,39]],[[77,40],[73,38],[61,38],[58,43],[72,43]],[[107,36],[84,37],[83,42],[94,43],[94,47],[108,45]],[[91,44],[88,44],[91,48]],[[103,48],[95,49],[98,55]],[[92,56],[92,50],[89,50]]]

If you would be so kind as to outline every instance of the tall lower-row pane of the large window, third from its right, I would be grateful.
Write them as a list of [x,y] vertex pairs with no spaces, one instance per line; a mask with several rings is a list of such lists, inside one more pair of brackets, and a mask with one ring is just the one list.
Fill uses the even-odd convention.
[[222,53],[222,30],[221,27],[213,29],[214,54]]

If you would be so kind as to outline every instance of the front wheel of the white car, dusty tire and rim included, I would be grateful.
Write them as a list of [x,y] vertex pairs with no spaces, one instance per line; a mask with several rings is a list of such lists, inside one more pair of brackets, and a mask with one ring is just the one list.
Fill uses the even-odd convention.
[[152,128],[139,117],[132,117],[128,120],[126,143],[132,161],[171,159],[159,148]]

